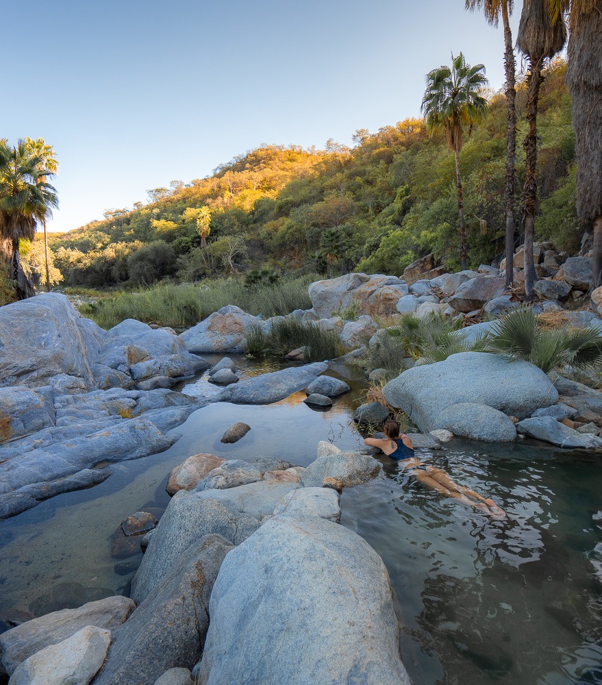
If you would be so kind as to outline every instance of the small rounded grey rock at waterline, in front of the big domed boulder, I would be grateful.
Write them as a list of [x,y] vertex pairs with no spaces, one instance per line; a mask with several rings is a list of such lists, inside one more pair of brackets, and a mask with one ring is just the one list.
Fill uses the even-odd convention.
[[436,429],[449,430],[456,436],[487,443],[510,443],[516,440],[516,428],[508,417],[485,404],[462,402],[445,408],[437,419]]

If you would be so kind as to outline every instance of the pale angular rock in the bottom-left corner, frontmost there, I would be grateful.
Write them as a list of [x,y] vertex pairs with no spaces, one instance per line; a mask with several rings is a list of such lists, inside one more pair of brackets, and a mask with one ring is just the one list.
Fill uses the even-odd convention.
[[20,664],[11,685],[88,685],[101,669],[111,633],[88,625],[56,645],[41,649]]

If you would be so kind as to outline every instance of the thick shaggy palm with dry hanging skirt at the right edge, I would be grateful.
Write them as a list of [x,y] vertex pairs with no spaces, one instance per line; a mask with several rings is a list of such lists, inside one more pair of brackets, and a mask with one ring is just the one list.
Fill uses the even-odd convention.
[[569,14],[566,83],[573,99],[577,214],[594,227],[593,287],[602,285],[602,0],[549,0],[553,21]]

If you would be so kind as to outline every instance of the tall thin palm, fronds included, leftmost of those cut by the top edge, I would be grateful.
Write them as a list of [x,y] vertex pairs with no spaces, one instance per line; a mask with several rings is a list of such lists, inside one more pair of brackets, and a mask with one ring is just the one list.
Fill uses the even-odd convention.
[[514,280],[514,161],[516,158],[516,64],[510,29],[510,14],[514,0],[466,0],[466,9],[483,10],[488,23],[497,27],[501,16],[504,27],[504,66],[506,72],[506,102],[508,108],[506,125],[506,288]]

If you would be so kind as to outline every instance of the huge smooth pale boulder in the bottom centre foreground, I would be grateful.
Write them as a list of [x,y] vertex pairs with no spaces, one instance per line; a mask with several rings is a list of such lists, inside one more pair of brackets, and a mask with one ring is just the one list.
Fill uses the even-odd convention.
[[200,685],[409,685],[381,558],[316,516],[277,516],[226,556]]

